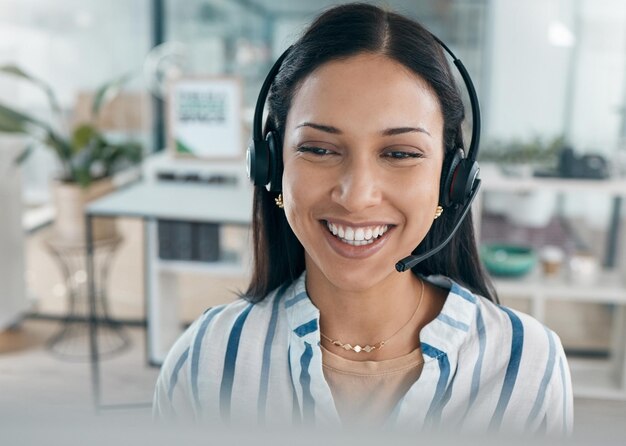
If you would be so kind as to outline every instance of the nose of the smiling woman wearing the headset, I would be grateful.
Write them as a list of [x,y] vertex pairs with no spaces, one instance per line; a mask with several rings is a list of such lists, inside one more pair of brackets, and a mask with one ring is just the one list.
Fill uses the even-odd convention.
[[332,198],[351,213],[375,206],[382,198],[378,177],[375,166],[352,162],[342,169]]

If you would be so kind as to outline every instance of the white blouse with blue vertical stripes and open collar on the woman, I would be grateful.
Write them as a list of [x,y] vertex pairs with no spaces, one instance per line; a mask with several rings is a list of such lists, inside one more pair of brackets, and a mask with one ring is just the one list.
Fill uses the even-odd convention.
[[[441,313],[420,333],[424,366],[385,425],[569,433],[570,373],[558,336],[443,276]],[[304,274],[263,301],[207,310],[169,352],[154,414],[211,423],[341,424],[322,370],[319,311]]]

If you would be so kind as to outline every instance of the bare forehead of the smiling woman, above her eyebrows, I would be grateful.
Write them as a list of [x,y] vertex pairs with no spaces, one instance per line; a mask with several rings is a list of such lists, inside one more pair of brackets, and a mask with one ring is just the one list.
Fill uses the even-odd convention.
[[327,62],[303,79],[287,126],[293,129],[300,121],[320,119],[347,127],[421,125],[433,133],[443,129],[439,101],[427,82],[387,56],[368,53]]

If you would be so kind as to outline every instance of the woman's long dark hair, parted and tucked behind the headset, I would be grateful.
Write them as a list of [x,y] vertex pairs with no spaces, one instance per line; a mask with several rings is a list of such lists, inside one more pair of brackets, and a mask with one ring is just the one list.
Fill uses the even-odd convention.
[[[423,78],[436,94],[444,118],[446,157],[463,147],[463,102],[440,45],[420,24],[376,6],[353,3],[334,7],[320,15],[293,45],[268,96],[270,130],[284,137],[287,113],[304,78],[326,62],[361,53],[382,54]],[[445,164],[445,162],[444,162]],[[285,213],[265,187],[254,191],[252,233],[254,265],[244,297],[262,300],[271,290],[297,279],[304,271],[304,249],[291,230]],[[457,215],[446,209],[415,250],[424,252],[452,230]],[[398,259],[400,260],[400,259]],[[389,265],[393,268],[393,265]],[[450,243],[415,268],[416,274],[442,274],[473,292],[497,302],[497,295],[481,267],[471,212]]]

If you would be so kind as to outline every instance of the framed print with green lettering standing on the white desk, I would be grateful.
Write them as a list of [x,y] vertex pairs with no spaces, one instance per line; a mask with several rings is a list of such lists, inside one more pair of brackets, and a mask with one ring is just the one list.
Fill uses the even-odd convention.
[[241,82],[232,77],[183,78],[170,86],[168,146],[176,155],[242,158]]

